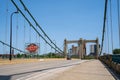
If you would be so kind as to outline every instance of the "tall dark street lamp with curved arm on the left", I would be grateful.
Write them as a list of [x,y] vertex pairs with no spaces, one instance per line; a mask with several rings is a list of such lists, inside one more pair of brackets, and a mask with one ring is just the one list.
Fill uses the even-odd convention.
[[17,14],[17,13],[18,13],[18,11],[13,12],[10,15],[10,57],[9,57],[10,61],[12,60],[12,16],[13,16],[13,14]]

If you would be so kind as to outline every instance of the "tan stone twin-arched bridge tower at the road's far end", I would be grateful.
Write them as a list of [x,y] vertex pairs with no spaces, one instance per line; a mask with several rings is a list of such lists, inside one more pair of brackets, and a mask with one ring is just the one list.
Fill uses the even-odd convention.
[[71,43],[77,43],[78,44],[78,54],[79,58],[82,59],[86,55],[86,43],[96,43],[97,49],[96,49],[96,59],[98,58],[99,54],[99,40],[96,38],[96,40],[85,40],[80,38],[79,40],[64,40],[64,56],[67,58],[67,45]]

